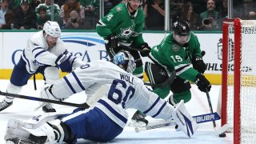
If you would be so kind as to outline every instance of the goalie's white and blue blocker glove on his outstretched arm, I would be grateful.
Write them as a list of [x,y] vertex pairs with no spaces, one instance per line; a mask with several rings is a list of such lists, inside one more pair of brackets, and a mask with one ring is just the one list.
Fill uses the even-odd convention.
[[174,121],[177,122],[177,125],[182,129],[182,131],[191,138],[194,132],[198,129],[197,122],[194,121],[194,118],[189,114],[184,106],[184,101],[178,103],[174,111],[172,112]]

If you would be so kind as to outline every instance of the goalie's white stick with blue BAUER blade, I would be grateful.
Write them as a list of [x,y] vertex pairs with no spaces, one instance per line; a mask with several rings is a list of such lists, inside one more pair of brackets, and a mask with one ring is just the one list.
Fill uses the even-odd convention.
[[[195,116],[193,116],[193,118],[197,123],[211,122],[211,121],[217,121],[217,120],[221,119],[216,112],[210,113],[210,114],[195,115]],[[177,125],[176,122],[170,121],[170,122],[166,122],[166,123],[155,124],[153,126],[135,127],[135,131],[138,133],[142,130],[152,130],[152,129],[157,129],[157,128],[161,128],[161,127],[176,126],[176,125]]]

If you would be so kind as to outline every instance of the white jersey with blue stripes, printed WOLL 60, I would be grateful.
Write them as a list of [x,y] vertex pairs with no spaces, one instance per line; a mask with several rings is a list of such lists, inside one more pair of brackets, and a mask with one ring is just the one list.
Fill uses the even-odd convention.
[[141,79],[111,62],[89,62],[54,83],[51,92],[56,98],[68,98],[86,90],[90,97],[101,86],[107,86],[107,90],[95,106],[121,127],[127,122],[127,108],[141,110],[153,118],[171,118],[173,106],[148,90]]

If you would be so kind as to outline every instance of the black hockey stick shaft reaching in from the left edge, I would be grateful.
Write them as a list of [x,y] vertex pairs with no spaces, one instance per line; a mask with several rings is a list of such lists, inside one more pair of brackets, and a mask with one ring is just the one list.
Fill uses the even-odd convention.
[[90,107],[86,102],[81,103],[81,104],[78,104],[78,103],[70,103],[70,102],[61,102],[61,101],[54,101],[54,100],[45,99],[45,98],[30,97],[30,96],[22,95],[22,94],[10,94],[10,93],[2,92],[2,91],[0,91],[0,95],[6,96],[6,97],[28,99],[28,100],[32,100],[32,101],[38,101],[38,102],[54,103],[54,104],[64,105],[64,106],[81,107],[81,108],[84,108],[84,109],[88,109],[88,108]]

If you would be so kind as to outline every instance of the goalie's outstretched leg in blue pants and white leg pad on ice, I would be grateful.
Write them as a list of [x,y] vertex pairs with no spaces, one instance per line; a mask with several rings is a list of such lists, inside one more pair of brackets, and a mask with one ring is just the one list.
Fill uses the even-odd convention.
[[[43,120],[41,120],[43,121]],[[24,122],[23,122],[24,123]],[[25,128],[22,122],[8,122],[5,139],[23,143],[75,143],[78,138],[108,142],[122,133],[123,128],[94,107],[93,110],[74,110],[60,119]]]

